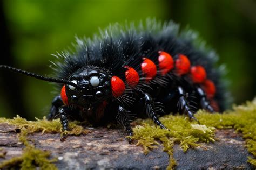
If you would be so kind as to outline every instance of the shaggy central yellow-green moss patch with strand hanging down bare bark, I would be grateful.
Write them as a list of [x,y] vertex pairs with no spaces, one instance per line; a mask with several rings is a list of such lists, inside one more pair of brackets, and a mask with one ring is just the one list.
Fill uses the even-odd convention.
[[159,141],[170,156],[170,164],[167,169],[173,169],[176,161],[173,158],[173,145],[179,144],[186,152],[190,147],[199,146],[198,142],[214,141],[213,127],[198,125],[197,122],[188,121],[186,116],[167,115],[160,118],[161,122],[168,130],[162,130],[155,126],[150,120],[143,120],[142,125],[133,128],[133,139],[138,140],[137,145],[144,147],[144,153],[148,153],[151,148],[158,147]]

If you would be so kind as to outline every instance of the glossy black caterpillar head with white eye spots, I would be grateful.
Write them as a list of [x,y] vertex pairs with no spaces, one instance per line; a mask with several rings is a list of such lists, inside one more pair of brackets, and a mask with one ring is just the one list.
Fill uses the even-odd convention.
[[64,85],[65,90],[62,90],[64,104],[69,103],[90,109],[93,105],[110,98],[112,94],[111,76],[97,67],[79,69],[70,76],[69,81],[80,88]]

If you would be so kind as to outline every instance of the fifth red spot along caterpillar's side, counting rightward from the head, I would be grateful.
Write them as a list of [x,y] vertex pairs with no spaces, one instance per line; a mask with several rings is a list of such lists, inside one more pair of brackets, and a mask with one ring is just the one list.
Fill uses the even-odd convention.
[[187,56],[179,54],[178,59],[175,61],[176,73],[181,76],[190,72],[190,60]]

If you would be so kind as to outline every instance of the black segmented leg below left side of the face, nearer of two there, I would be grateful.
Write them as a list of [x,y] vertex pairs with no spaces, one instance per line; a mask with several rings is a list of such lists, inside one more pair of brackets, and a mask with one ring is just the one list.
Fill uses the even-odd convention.
[[60,138],[60,141],[64,141],[68,136],[69,122],[68,122],[68,117],[66,116],[68,111],[69,111],[69,108],[65,106],[59,109],[60,123],[62,124],[62,131],[63,131],[63,136]]

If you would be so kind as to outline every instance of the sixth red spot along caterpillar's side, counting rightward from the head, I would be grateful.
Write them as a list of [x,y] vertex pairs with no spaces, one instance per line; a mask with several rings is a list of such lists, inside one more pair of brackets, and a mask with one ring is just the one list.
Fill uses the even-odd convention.
[[194,83],[203,83],[206,79],[206,71],[202,66],[193,66],[190,72]]

